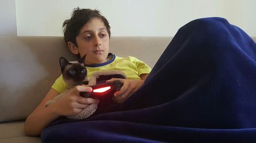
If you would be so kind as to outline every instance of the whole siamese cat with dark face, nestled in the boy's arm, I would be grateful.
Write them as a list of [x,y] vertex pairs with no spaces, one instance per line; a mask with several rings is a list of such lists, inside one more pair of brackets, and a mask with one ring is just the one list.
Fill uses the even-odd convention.
[[[68,84],[68,89],[63,91],[58,96],[49,100],[45,107],[56,102],[61,97],[67,95],[70,90],[72,90],[76,85],[88,84],[87,69],[85,67],[86,55],[84,55],[80,60],[74,62],[68,62],[65,58],[61,57],[59,59],[59,65],[62,73],[63,81]],[[84,108],[81,112],[73,116],[67,116],[70,119],[84,119],[91,116],[97,109],[97,104],[90,104]],[[61,108],[61,107],[60,107]]]

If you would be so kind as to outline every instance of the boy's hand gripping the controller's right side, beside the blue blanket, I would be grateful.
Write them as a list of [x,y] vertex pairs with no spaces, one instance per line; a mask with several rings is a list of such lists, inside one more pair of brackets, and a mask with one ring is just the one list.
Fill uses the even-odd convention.
[[113,101],[116,103],[122,103],[127,98],[129,98],[135,91],[137,91],[144,80],[136,80],[136,79],[121,79],[121,78],[112,78],[107,80],[106,82],[111,82],[115,80],[120,80],[123,82],[123,86],[121,87],[120,91],[114,93]]

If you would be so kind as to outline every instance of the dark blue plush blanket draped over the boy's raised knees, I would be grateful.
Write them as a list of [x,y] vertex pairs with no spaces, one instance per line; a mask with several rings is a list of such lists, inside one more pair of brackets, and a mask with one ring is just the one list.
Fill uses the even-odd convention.
[[[156,47],[157,48],[157,47]],[[256,44],[219,17],[182,26],[142,87],[42,142],[256,142]]]

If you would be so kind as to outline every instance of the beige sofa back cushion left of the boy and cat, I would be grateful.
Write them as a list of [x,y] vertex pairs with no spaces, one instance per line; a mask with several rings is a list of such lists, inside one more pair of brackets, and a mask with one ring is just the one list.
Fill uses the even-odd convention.
[[25,119],[60,74],[58,58],[68,49],[61,37],[1,37],[0,43],[0,122]]

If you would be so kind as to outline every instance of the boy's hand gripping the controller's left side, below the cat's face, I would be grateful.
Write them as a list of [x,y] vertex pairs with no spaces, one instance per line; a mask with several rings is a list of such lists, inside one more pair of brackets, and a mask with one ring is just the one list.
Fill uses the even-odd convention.
[[86,108],[89,104],[97,104],[98,99],[83,98],[79,95],[79,92],[91,92],[92,88],[86,85],[78,85],[72,89],[67,95],[63,96],[55,103],[51,104],[54,106],[54,111],[59,116],[72,116],[76,115],[82,109]]

